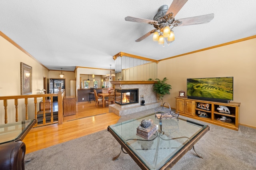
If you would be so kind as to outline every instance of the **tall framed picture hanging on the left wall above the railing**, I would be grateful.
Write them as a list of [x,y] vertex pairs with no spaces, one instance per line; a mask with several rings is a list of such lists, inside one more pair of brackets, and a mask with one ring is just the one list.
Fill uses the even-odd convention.
[[21,95],[32,94],[32,67],[20,62]]

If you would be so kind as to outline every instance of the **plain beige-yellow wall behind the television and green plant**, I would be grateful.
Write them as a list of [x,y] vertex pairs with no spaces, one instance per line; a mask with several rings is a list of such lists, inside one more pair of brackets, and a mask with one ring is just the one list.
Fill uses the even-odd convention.
[[176,107],[178,91],[186,91],[187,78],[234,77],[234,102],[240,102],[239,123],[256,127],[256,38],[158,63],[158,78],[168,79],[171,95],[164,96]]

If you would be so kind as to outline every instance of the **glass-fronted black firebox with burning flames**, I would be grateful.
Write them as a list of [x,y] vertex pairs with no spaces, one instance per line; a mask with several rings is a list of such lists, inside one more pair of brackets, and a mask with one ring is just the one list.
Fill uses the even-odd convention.
[[138,94],[139,89],[116,89],[115,103],[119,105],[128,105],[132,103],[139,103]]

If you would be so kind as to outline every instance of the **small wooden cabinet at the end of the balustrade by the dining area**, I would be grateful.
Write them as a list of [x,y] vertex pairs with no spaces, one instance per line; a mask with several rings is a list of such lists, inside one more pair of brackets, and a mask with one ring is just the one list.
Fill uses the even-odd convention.
[[76,114],[76,97],[65,96],[63,99],[63,115],[75,115]]

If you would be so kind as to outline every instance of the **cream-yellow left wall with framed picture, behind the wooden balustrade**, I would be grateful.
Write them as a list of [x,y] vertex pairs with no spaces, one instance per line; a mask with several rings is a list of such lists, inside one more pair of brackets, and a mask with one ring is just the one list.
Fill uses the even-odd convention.
[[[0,32],[1,33],[1,32]],[[48,69],[32,57],[22,52],[0,34],[0,96],[20,95],[20,62],[32,67],[32,94],[43,89],[43,77],[48,77]],[[19,120],[25,120],[24,101],[18,101]],[[8,100],[8,122],[15,121],[14,101]],[[30,109],[32,111],[30,111]],[[28,100],[29,119],[34,119],[34,99]],[[4,123],[4,105],[0,101],[0,124]]]

